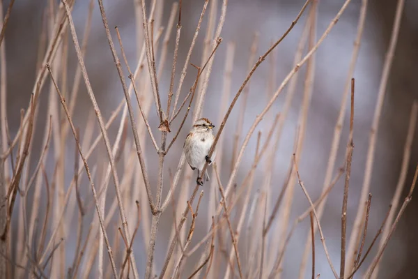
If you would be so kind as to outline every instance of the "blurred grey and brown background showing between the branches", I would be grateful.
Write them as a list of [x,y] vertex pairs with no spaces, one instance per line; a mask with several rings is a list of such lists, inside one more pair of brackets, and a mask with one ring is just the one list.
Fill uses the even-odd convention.
[[[48,1],[16,1],[10,15],[10,21],[6,30],[6,36],[3,45],[6,46],[7,61],[7,116],[10,126],[10,134],[14,137],[20,126],[20,109],[26,108],[33,84],[36,79],[36,67],[38,57],[39,37],[42,30],[42,18],[45,17],[45,8]],[[355,68],[355,120],[354,120],[354,144],[353,153],[353,169],[351,174],[350,194],[348,199],[348,229],[351,231],[355,213],[359,206],[358,200],[360,189],[364,178],[364,166],[366,163],[366,153],[369,144],[369,134],[373,112],[378,96],[378,86],[382,74],[383,61],[385,53],[389,45],[389,38],[392,32],[394,22],[394,14],[397,1],[386,0],[369,0],[366,24],[364,27],[363,38]],[[2,1],[3,13],[7,10],[9,1]],[[149,1],[146,1],[148,8]],[[167,24],[170,15],[170,9],[173,1],[164,0],[164,8],[156,11],[156,22],[160,20],[162,26]],[[240,84],[248,73],[248,59],[251,54],[251,44],[254,35],[258,34],[258,47],[256,57],[263,54],[271,43],[277,40],[288,29],[288,26],[294,20],[295,16],[302,7],[304,1],[300,0],[229,0],[228,10],[226,13],[226,22],[222,31],[222,43],[217,50],[215,61],[213,64],[212,75],[206,95],[206,103],[203,107],[203,116],[211,119],[212,122],[219,127],[219,106],[222,98],[222,86],[224,78],[224,61],[226,59],[226,48],[229,42],[235,43],[235,59],[233,61],[233,73],[231,84],[231,96],[238,90]],[[325,31],[334,15],[341,8],[343,1],[319,0],[318,1],[318,19],[317,19],[317,39]],[[56,5],[59,1],[56,1]],[[183,67],[185,57],[187,55],[188,46],[192,40],[196,23],[199,20],[203,1],[183,0],[182,7],[182,34],[180,38],[178,71],[176,80],[180,76],[180,69]],[[210,4],[209,4],[210,5]],[[135,29],[134,4],[131,0],[111,1],[104,0],[104,6],[107,10],[107,18],[109,27],[118,26],[121,31],[121,37],[130,61],[132,70],[137,63],[139,51],[136,45],[137,36],[142,36],[142,31]],[[216,7],[217,13],[220,13],[221,3]],[[348,6],[341,19],[332,29],[330,35],[325,39],[323,45],[316,52],[316,64],[314,72],[314,87],[311,94],[311,105],[309,108],[309,120],[307,123],[307,131],[304,140],[304,149],[300,159],[300,174],[309,190],[313,199],[320,196],[323,185],[325,169],[327,166],[327,158],[330,153],[330,145],[337,116],[339,114],[339,106],[343,93],[343,86],[346,82],[348,66],[353,52],[353,42],[357,33],[357,20],[361,1],[353,0]],[[403,156],[403,148],[408,130],[408,119],[412,107],[412,102],[417,98],[418,79],[417,79],[417,63],[418,63],[418,1],[405,1],[403,17],[401,20],[401,29],[398,37],[392,70],[389,75],[387,93],[385,103],[383,105],[380,126],[378,130],[378,141],[376,146],[375,163],[371,178],[371,193],[373,199],[371,203],[371,213],[369,220],[369,232],[366,243],[370,243],[373,235],[377,232],[382,219],[385,217],[387,206],[390,204],[394,193],[398,176],[401,169],[401,160]],[[75,1],[72,12],[77,29],[79,39],[82,38],[84,24],[88,13],[88,1]],[[207,12],[208,13],[208,12]],[[278,86],[287,73],[293,67],[293,56],[297,49],[297,42],[301,36],[307,13],[302,16],[300,22],[295,26],[293,31],[285,38],[285,40],[277,47],[274,52],[274,63],[277,67],[275,72],[275,84]],[[204,31],[208,20],[204,19],[201,27],[201,33],[196,41],[196,47],[192,53],[191,63],[201,64],[201,55],[204,44]],[[116,33],[111,28],[112,36],[115,44]],[[172,37],[168,47],[168,60],[162,77],[160,78],[160,92],[162,92],[163,107],[167,104],[167,91],[169,89],[169,80],[171,73],[171,62],[174,49],[175,28],[172,31]],[[68,81],[72,81],[75,68],[77,67],[77,56],[75,55],[74,46],[70,36],[68,36]],[[118,49],[118,47],[116,47]],[[119,52],[118,52],[119,53]],[[269,59],[268,59],[269,60]],[[93,91],[98,100],[98,105],[102,110],[104,119],[108,119],[111,112],[115,110],[118,103],[123,99],[123,91],[114,61],[107,44],[106,34],[104,32],[102,20],[98,10],[97,3],[93,10],[93,19],[91,25],[91,34],[86,49],[86,68],[91,80]],[[268,100],[268,75],[270,73],[269,62],[265,61],[251,78],[249,84],[249,97],[247,101],[247,110],[245,112],[243,122],[243,132],[246,134],[257,114],[263,110]],[[125,68],[124,68],[125,69]],[[306,67],[301,69],[300,79],[297,82],[297,90],[293,100],[291,111],[288,114],[287,121],[284,126],[284,133],[279,145],[278,156],[275,158],[274,176],[272,177],[271,193],[272,201],[277,198],[281,190],[282,181],[286,177],[288,171],[289,159],[293,153],[293,142],[295,139],[295,128],[299,117],[300,105],[303,95],[303,78]],[[189,87],[192,86],[195,77],[195,70],[189,67],[187,77],[181,96],[185,96]],[[127,78],[127,72],[125,71]],[[49,78],[47,79],[49,84]],[[175,87],[176,88],[176,87]],[[43,91],[47,91],[48,86],[44,86]],[[275,88],[274,88],[275,91]],[[271,92],[270,92],[271,93]],[[284,104],[284,94],[279,96],[271,109],[272,114],[281,112]],[[40,97],[40,114],[38,116],[38,130],[34,134],[33,155],[31,156],[31,164],[36,165],[42,149],[43,127],[46,123],[48,94],[41,93]],[[180,97],[183,100],[183,97]],[[230,102],[230,101],[229,101]],[[238,101],[238,105],[240,101]],[[60,107],[61,109],[61,107]],[[192,106],[192,111],[194,107]],[[238,119],[238,106],[235,107],[228,124],[226,125],[225,146],[222,160],[226,169],[231,165],[233,133]],[[86,86],[81,82],[79,86],[79,95],[77,98],[76,113],[74,121],[77,125],[86,123],[88,115],[91,112],[91,102],[88,100]],[[343,134],[339,153],[336,159],[336,168],[343,165],[345,146],[348,139],[348,121],[349,110],[346,111],[346,121],[343,126]],[[158,118],[155,110],[152,108],[149,114],[150,125],[153,130],[157,131]],[[66,119],[65,119],[66,121]],[[178,127],[180,117],[173,124]],[[118,122],[118,121],[116,121]],[[270,129],[270,122],[263,121],[257,130],[263,130],[267,133]],[[179,140],[173,145],[170,156],[167,157],[166,169],[164,174],[169,176],[169,169],[175,171],[178,158],[183,151],[183,139],[187,135],[189,126],[191,126],[191,117],[189,117],[180,133]],[[111,126],[109,129],[109,137],[114,139],[118,124]],[[215,128],[216,129],[216,128]],[[96,128],[95,133],[98,133]],[[157,133],[157,132],[155,132]],[[415,133],[417,135],[417,133]],[[264,135],[264,134],[263,134]],[[130,128],[128,129],[128,137],[132,137]],[[241,139],[242,140],[242,139]],[[410,167],[408,168],[408,176],[405,182],[405,190],[401,195],[401,202],[409,190],[415,166],[418,160],[418,144],[416,140],[412,144],[412,156],[410,159]],[[53,148],[52,144],[51,148]],[[251,138],[247,152],[245,153],[240,172],[238,173],[238,181],[240,176],[244,176],[251,167],[256,146],[256,135]],[[155,185],[156,180],[153,175],[157,174],[157,156],[153,150],[152,144],[147,140],[144,147],[147,153],[148,172],[150,172],[151,184]],[[103,146],[99,149],[96,158],[107,158]],[[100,155],[100,153],[102,153]],[[65,164],[69,167],[68,173],[65,172],[65,185],[70,183],[72,179],[72,164],[74,162],[74,143],[68,141],[65,153]],[[49,158],[53,160],[53,158]],[[92,159],[95,160],[95,159]],[[256,172],[254,190],[263,183],[263,167],[261,165]],[[47,174],[52,175],[54,167],[52,162],[47,164]],[[212,177],[215,178],[215,176]],[[228,181],[228,174],[223,172],[222,180]],[[167,182],[168,183],[168,182]],[[277,186],[274,186],[274,183]],[[82,187],[85,195],[91,195],[88,183],[84,183]],[[169,188],[168,186],[166,189]],[[111,190],[110,190],[111,189]],[[114,195],[113,188],[109,187],[109,195]],[[167,191],[164,190],[164,193]],[[182,195],[182,193],[179,193]],[[323,216],[323,231],[327,239],[327,246],[333,262],[338,263],[340,255],[340,238],[341,238],[341,202],[343,197],[343,179],[340,179],[334,190],[330,193],[330,197],[325,206]],[[203,204],[207,201],[203,200]],[[295,201],[291,211],[291,219],[294,220],[309,206],[306,197],[299,187],[295,188]],[[205,206],[201,210],[204,211]],[[30,213],[30,208],[27,209]],[[170,210],[169,210],[170,211]],[[155,269],[158,272],[164,262],[164,257],[169,243],[169,235],[171,231],[172,215],[170,212],[164,213],[162,222],[157,236],[157,247],[155,250]],[[129,215],[132,212],[127,212]],[[389,243],[385,256],[382,259],[380,273],[378,278],[415,278],[416,259],[418,257],[418,234],[417,224],[418,202],[412,199],[412,202],[405,211],[405,215],[396,229],[392,240]],[[133,213],[132,213],[133,214]],[[117,216],[115,216],[115,219]],[[75,218],[77,219],[77,218]],[[198,219],[199,220],[199,219]],[[77,220],[74,220],[75,222]],[[168,225],[166,225],[168,224]],[[300,266],[300,257],[304,250],[304,241],[309,228],[309,220],[305,220],[302,225],[297,227],[295,235],[289,244],[286,258],[284,259],[284,270],[282,278],[297,278]],[[18,233],[17,223],[12,228]],[[203,236],[208,231],[205,222],[196,223],[196,239]],[[274,233],[272,233],[274,237]],[[74,241],[75,236],[69,236],[65,241]],[[137,246],[135,254],[137,257],[137,265],[140,274],[145,269],[146,250],[141,238],[137,237],[135,245]],[[317,271],[321,274],[320,278],[331,278],[323,248],[317,235]],[[67,244],[68,245],[68,244]],[[376,246],[371,254],[376,254]],[[68,250],[68,255],[72,255],[73,251]],[[72,259],[72,256],[68,256]],[[366,260],[364,266],[370,264],[373,257]],[[309,269],[309,267],[308,267]],[[364,272],[364,269],[363,269]],[[306,273],[309,278],[309,272]]]

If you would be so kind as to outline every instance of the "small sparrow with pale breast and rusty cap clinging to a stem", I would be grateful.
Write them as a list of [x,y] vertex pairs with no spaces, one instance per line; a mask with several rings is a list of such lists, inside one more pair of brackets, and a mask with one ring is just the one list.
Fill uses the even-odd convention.
[[[215,125],[213,125],[209,119],[198,119],[192,126],[189,135],[186,137],[185,144],[183,145],[187,163],[189,163],[189,166],[193,170],[197,169],[196,183],[201,186],[203,186],[203,181],[200,179],[200,172],[203,169],[205,162],[208,162],[208,164],[212,163],[208,153],[213,140],[215,140],[215,137],[212,134],[213,127],[215,127]],[[209,181],[207,171],[205,172],[205,178],[206,181]]]

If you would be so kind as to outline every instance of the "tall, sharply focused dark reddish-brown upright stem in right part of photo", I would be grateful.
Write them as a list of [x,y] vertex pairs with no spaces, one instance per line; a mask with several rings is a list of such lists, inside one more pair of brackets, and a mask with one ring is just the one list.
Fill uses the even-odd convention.
[[[344,278],[346,270],[346,230],[347,230],[347,202],[348,188],[350,186],[351,162],[353,160],[353,122],[354,122],[354,78],[351,79],[351,113],[350,113],[350,135],[347,145],[346,183],[344,183],[343,208],[341,212],[341,264],[340,278]],[[314,244],[312,244],[314,245]],[[314,274],[313,274],[314,276]]]

